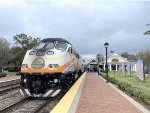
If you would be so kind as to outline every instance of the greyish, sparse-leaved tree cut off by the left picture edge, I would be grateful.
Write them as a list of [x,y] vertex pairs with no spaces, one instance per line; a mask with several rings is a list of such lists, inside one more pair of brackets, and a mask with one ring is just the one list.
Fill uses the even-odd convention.
[[3,67],[7,65],[12,57],[9,43],[4,38],[0,38],[0,72],[3,71]]

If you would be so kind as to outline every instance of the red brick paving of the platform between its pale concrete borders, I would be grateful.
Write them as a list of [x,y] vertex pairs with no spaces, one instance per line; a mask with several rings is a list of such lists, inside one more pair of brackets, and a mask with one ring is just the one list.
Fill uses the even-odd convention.
[[76,113],[142,113],[142,111],[96,73],[88,73]]

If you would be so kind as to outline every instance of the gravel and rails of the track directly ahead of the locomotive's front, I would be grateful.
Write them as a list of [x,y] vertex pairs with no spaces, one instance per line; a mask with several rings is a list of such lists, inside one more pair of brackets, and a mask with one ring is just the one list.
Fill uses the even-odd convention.
[[0,113],[39,113],[47,104],[53,104],[54,98],[24,98],[0,110]]

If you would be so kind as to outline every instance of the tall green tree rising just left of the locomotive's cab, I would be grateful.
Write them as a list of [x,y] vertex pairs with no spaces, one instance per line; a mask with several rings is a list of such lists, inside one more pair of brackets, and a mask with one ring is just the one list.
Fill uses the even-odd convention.
[[40,38],[33,38],[26,34],[16,34],[13,36],[16,46],[12,47],[14,58],[11,61],[15,66],[20,66],[27,50],[33,48],[40,41]]

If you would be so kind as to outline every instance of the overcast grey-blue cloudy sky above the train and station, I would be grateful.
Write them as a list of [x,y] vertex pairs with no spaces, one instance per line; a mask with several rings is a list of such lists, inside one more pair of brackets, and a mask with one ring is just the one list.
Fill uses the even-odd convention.
[[62,37],[81,55],[150,48],[150,1],[0,0],[0,37]]

